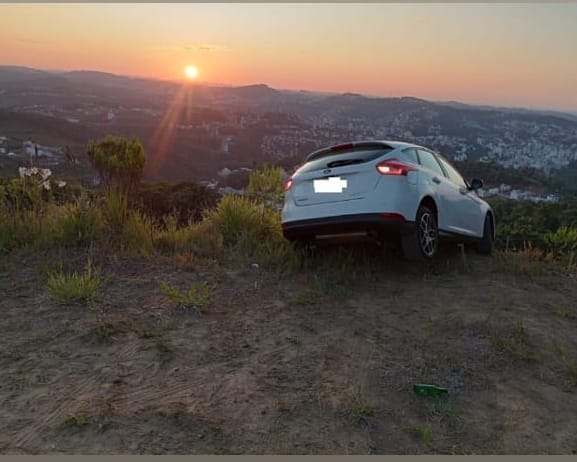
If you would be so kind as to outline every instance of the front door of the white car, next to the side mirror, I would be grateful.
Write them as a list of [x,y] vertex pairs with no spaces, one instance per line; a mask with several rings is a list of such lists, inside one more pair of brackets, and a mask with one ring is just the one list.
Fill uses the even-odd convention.
[[462,232],[471,236],[482,236],[485,217],[482,214],[479,197],[468,188],[467,182],[447,159],[440,155],[437,155],[437,159],[453,185],[454,207],[456,212],[459,213]]

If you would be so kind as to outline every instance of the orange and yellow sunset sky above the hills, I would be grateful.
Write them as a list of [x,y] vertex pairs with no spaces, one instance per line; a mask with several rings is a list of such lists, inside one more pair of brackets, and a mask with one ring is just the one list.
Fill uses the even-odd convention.
[[0,4],[0,65],[577,111],[577,3]]

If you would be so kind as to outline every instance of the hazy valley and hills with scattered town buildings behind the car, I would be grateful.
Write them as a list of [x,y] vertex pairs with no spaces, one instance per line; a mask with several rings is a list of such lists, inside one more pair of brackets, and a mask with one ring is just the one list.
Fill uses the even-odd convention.
[[[109,133],[139,136],[149,154],[161,157],[150,172],[156,179],[188,177],[238,194],[243,188],[227,185],[228,179],[256,164],[277,164],[289,174],[312,150],[348,140],[409,141],[456,162],[531,168],[545,176],[577,165],[577,117],[569,114],[266,85],[183,89],[99,73],[44,74],[0,67],[0,172],[31,161],[86,165],[85,143]],[[487,182],[479,195],[559,200],[555,191],[534,189]]]

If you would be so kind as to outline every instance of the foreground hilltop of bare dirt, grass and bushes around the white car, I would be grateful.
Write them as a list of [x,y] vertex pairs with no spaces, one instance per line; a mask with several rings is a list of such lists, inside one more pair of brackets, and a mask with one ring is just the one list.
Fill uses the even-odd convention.
[[0,182],[1,453],[577,450],[574,201],[496,201],[492,257],[409,263],[301,252],[278,168],[222,197],[23,174]]

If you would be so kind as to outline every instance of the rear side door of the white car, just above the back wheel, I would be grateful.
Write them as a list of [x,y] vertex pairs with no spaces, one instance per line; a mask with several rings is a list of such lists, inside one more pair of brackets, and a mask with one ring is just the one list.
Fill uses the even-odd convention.
[[420,182],[424,191],[434,191],[434,199],[438,209],[439,231],[461,233],[459,214],[455,211],[454,187],[447,178],[441,164],[435,155],[425,149],[417,149],[419,164],[421,165]]

